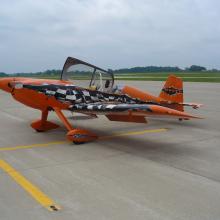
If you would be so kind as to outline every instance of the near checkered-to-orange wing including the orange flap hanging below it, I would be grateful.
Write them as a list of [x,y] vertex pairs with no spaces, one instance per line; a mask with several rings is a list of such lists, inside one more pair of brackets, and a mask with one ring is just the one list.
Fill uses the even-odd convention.
[[153,104],[107,104],[107,103],[80,103],[70,106],[70,111],[80,113],[103,114],[112,121],[127,121],[146,123],[145,117],[171,117],[190,119],[196,116]]

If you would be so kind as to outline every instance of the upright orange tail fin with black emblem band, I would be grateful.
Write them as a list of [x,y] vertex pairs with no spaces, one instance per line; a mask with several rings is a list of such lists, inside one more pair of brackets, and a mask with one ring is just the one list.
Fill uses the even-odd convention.
[[170,103],[173,109],[184,111],[182,105],[183,81],[174,75],[170,75],[167,78],[159,97],[168,101],[168,104]]

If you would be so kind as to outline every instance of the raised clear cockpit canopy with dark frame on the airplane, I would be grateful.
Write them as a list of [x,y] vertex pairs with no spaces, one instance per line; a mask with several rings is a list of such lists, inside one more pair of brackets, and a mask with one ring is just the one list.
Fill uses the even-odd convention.
[[103,92],[110,92],[114,84],[111,72],[72,57],[68,57],[64,64],[61,80]]

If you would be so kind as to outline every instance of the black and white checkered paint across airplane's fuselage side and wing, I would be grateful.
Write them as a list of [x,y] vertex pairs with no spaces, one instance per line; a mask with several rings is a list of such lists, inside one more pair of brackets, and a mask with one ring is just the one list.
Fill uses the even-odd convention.
[[80,88],[74,85],[30,85],[23,88],[35,90],[47,96],[54,96],[61,102],[70,103],[69,110],[105,114],[110,112],[152,112],[151,103],[133,99],[124,94],[110,94]]

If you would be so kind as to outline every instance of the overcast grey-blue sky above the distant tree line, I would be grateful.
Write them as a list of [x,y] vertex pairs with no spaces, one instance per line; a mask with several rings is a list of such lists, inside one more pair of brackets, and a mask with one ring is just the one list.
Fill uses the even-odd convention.
[[0,72],[103,68],[220,69],[219,0],[0,0]]

